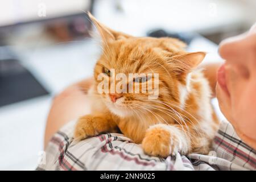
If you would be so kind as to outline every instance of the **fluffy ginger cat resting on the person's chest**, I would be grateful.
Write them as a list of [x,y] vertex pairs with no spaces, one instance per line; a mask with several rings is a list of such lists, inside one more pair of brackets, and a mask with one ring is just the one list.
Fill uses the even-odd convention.
[[[89,16],[100,32],[103,50],[88,91],[92,112],[77,121],[74,139],[119,129],[142,143],[148,155],[208,154],[218,120],[210,104],[208,81],[195,69],[205,53],[188,53],[185,44],[173,38],[137,38],[113,31]],[[109,77],[108,85],[115,79],[110,69],[125,75],[159,73],[158,98],[148,99],[149,93],[99,93],[98,75]],[[149,80],[156,78],[131,81],[142,88]]]

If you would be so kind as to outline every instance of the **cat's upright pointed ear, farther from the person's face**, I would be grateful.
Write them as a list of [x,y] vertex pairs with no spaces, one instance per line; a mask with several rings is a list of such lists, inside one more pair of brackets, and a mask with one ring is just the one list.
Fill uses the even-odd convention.
[[130,35],[124,34],[122,32],[117,32],[109,27],[106,27],[104,24],[100,23],[92,14],[88,12],[89,18],[92,20],[92,23],[96,26],[100,36],[104,42],[112,42],[113,40],[124,39],[131,37]]

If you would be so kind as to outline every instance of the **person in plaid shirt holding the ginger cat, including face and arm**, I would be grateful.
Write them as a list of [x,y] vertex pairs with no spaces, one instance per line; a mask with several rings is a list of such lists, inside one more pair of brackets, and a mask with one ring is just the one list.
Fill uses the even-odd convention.
[[229,122],[221,123],[209,155],[151,157],[122,134],[102,134],[73,142],[76,119],[90,112],[88,96],[81,89],[92,84],[92,78],[88,78],[69,86],[53,100],[44,143],[47,160],[37,169],[255,170],[256,26],[224,40],[219,53],[225,63],[205,65],[205,76],[212,90],[216,87],[220,109]]

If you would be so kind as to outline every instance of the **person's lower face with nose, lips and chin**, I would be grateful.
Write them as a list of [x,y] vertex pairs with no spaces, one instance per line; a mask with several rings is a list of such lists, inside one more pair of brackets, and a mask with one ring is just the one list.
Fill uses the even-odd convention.
[[236,133],[256,148],[256,24],[249,32],[224,40],[218,69],[217,98],[220,109]]

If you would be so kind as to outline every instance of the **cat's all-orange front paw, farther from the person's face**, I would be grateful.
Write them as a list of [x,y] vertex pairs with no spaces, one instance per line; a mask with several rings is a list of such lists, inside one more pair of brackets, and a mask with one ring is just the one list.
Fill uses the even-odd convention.
[[108,128],[104,118],[88,114],[77,121],[73,138],[75,140],[82,140],[93,137],[103,131],[108,131]]

